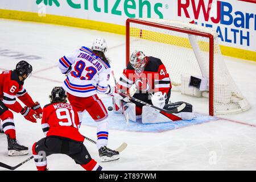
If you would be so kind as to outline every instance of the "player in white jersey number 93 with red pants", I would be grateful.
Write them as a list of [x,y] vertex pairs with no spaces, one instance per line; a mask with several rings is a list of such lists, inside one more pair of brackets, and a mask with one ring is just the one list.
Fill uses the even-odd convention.
[[60,71],[67,76],[63,88],[67,91],[69,102],[79,113],[80,125],[84,111],[88,111],[97,122],[97,148],[102,162],[119,159],[118,151],[106,147],[108,111],[97,96],[97,93],[113,92],[113,87],[109,85],[110,65],[106,51],[105,39],[97,38],[91,49],[80,47],[59,59]]

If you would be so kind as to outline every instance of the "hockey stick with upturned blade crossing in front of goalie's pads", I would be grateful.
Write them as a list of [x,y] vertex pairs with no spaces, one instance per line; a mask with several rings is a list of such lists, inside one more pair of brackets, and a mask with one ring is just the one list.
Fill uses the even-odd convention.
[[179,111],[183,110],[183,109],[185,108],[185,106],[186,106],[186,104],[183,103],[183,104],[181,104],[180,106],[175,107],[175,108],[172,109],[172,110],[166,110],[166,109],[161,109],[161,108],[156,107],[156,106],[154,106],[154,105],[148,104],[147,102],[143,102],[143,101],[141,101],[141,100],[138,100],[137,98],[127,96],[127,95],[124,94],[124,93],[118,93],[118,94],[120,94],[120,96],[122,96],[122,97],[128,97],[128,98],[130,98],[130,100],[139,102],[139,103],[141,103],[141,104],[143,104],[143,105],[146,105],[146,106],[149,106],[149,107],[153,107],[154,109],[163,111],[164,113],[167,113],[167,114],[179,113]]

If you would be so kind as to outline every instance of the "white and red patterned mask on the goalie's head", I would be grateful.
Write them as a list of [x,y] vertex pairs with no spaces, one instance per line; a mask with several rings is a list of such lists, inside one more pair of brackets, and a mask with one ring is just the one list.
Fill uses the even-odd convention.
[[146,56],[142,51],[134,51],[130,57],[130,64],[136,72],[141,73],[147,63]]

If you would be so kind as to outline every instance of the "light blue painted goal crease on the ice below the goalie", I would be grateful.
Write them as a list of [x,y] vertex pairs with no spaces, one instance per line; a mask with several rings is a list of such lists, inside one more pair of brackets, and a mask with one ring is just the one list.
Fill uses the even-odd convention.
[[[105,107],[113,106],[112,98],[105,97],[102,98],[102,102],[104,102]],[[151,123],[151,124],[142,124],[141,122],[133,122],[129,121],[129,125],[123,117],[122,114],[114,113],[113,111],[108,111],[109,117],[109,129],[112,130],[125,130],[125,131],[137,131],[137,132],[151,132],[151,133],[159,133],[168,130],[179,129],[181,127],[197,125],[205,122],[216,121],[218,118],[210,117],[209,115],[203,115],[199,113],[195,113],[195,118],[192,120],[180,120],[175,122],[168,123]],[[82,118],[82,125],[87,126],[97,126],[97,123],[93,121],[88,113],[85,113]]]

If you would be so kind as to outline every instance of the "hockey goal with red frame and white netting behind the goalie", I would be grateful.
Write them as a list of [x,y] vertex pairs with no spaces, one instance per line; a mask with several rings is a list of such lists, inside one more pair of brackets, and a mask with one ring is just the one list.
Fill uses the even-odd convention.
[[[209,98],[209,115],[238,113],[250,108],[230,76],[210,28],[164,19],[127,19],[126,62],[134,51],[158,57],[181,93]],[[191,85],[199,78],[204,89]],[[190,85],[189,85],[190,84]]]

